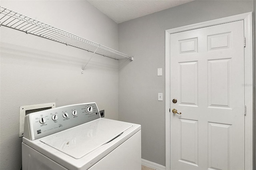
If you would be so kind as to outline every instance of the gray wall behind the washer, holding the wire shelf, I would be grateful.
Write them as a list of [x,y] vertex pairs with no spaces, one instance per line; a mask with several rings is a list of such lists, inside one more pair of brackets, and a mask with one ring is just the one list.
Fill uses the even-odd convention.
[[[117,49],[118,24],[87,1],[3,1],[1,5]],[[118,119],[118,61],[0,27],[0,169],[18,170],[22,151],[19,107],[96,102]]]

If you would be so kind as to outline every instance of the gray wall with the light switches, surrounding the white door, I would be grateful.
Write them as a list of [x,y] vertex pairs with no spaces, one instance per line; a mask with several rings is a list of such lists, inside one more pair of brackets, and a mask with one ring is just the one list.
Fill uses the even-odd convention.
[[142,125],[143,159],[165,166],[165,30],[253,10],[252,0],[196,0],[118,24],[119,50],[134,55],[118,61],[119,120]]

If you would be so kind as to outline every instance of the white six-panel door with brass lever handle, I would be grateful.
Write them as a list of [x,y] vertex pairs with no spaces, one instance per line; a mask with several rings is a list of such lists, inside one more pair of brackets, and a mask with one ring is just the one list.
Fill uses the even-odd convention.
[[171,170],[244,169],[244,21],[171,34],[170,83]]

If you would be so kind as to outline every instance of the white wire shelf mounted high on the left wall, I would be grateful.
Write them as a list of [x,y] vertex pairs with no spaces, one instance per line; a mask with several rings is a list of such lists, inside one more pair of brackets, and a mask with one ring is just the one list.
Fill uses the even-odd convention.
[[133,56],[126,55],[104,45],[76,36],[75,34],[50,26],[49,24],[40,22],[2,6],[0,6],[0,26],[20,30],[27,34],[33,34],[42,38],[64,43],[105,57],[113,59],[128,58],[133,60]]

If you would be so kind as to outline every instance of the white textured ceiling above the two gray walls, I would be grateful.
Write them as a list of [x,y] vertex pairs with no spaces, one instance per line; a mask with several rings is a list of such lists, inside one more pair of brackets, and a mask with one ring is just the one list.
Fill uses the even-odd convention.
[[132,20],[192,0],[88,0],[116,23]]

